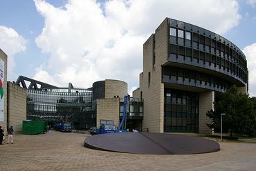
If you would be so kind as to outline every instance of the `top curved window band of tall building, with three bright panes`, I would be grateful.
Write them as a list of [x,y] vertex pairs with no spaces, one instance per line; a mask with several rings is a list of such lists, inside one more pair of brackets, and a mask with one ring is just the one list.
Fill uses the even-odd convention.
[[[174,34],[176,30],[178,36]],[[240,81],[239,86],[248,83],[248,68],[244,53],[214,32],[170,19],[169,49],[168,61],[221,72]]]

